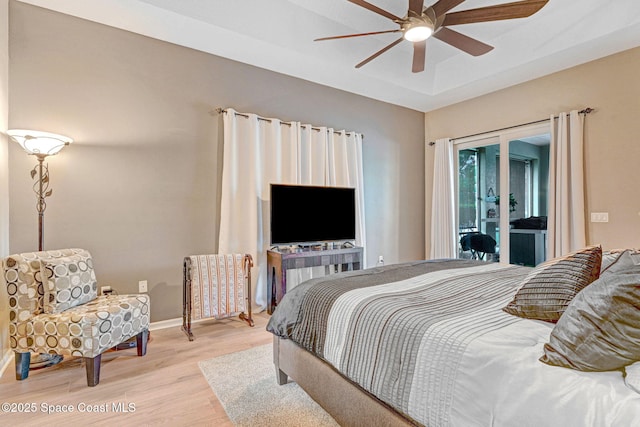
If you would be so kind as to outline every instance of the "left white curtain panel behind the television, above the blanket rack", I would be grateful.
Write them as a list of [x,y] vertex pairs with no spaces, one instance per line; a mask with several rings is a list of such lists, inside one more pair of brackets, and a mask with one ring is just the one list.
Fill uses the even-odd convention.
[[[295,182],[297,129],[255,114],[223,116],[224,154],[218,253],[253,257],[252,295],[266,307],[269,183]],[[293,142],[293,143],[292,143]]]

